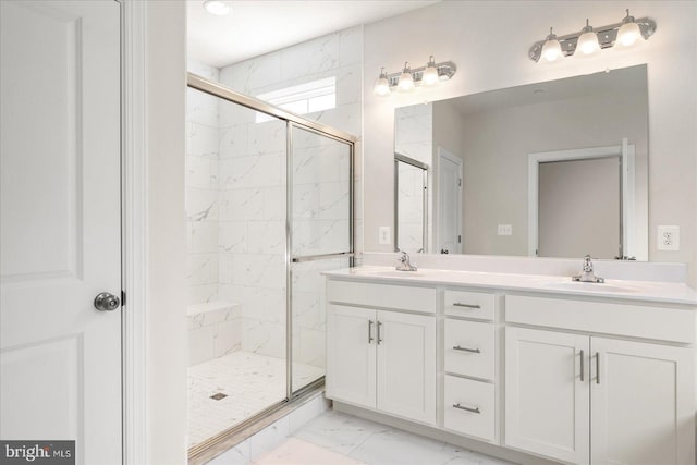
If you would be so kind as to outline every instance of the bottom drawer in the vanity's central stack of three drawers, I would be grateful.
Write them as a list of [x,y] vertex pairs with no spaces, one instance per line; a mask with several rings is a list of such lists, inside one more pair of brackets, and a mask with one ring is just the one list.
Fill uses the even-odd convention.
[[443,426],[447,429],[486,441],[494,440],[496,390],[493,384],[445,375],[443,405],[445,411]]

